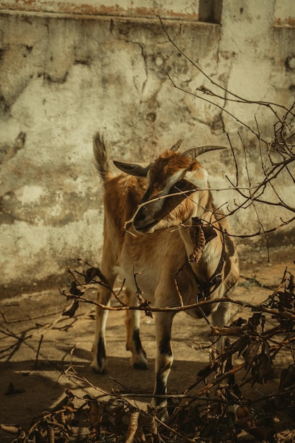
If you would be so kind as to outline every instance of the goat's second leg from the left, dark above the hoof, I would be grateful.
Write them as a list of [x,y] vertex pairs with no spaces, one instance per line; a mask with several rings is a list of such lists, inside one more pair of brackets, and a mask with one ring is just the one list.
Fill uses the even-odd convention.
[[[137,306],[137,297],[125,290],[125,303],[128,306]],[[125,314],[125,328],[126,328],[126,350],[132,352],[131,362],[135,369],[147,369],[146,352],[141,346],[141,340],[139,336],[139,325],[140,325],[140,313],[132,309],[126,311]]]

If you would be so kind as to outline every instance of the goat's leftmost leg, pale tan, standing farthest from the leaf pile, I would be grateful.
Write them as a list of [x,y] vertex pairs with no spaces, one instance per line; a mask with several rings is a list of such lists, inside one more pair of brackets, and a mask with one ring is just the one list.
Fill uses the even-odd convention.
[[[114,284],[115,277],[110,277],[108,282]],[[97,301],[105,306],[110,305],[110,289],[102,287],[98,291]],[[91,367],[98,374],[105,374],[107,371],[107,358],[105,354],[105,326],[108,320],[108,310],[96,306],[96,335],[92,347],[93,360]]]

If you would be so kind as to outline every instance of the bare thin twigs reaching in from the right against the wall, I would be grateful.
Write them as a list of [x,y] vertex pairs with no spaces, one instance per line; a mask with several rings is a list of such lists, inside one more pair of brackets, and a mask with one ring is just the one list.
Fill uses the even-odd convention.
[[[238,125],[244,127],[250,134],[254,135],[258,141],[258,154],[260,156],[260,165],[262,172],[262,180],[256,183],[256,180],[252,180],[250,177],[250,172],[248,171],[248,157],[247,157],[247,148],[241,134],[239,134],[241,139],[241,144],[243,148],[244,160],[243,164],[238,165],[237,156],[231,144],[231,140],[229,139],[229,144],[231,146],[231,151],[233,155],[233,161],[236,168],[236,183],[233,183],[229,178],[229,175],[226,175],[226,179],[229,181],[229,185],[232,190],[234,190],[238,196],[238,202],[235,202],[235,207],[230,209],[228,207],[228,212],[226,217],[229,217],[241,209],[253,208],[255,217],[258,221],[259,229],[254,233],[237,233],[230,232],[228,233],[231,236],[235,236],[238,238],[250,238],[255,236],[264,236],[267,244],[267,251],[269,250],[268,245],[268,237],[267,234],[270,234],[278,229],[281,229],[282,226],[287,226],[294,222],[294,200],[288,202],[285,198],[285,195],[282,195],[282,192],[279,192],[277,183],[275,180],[280,177],[282,178],[282,174],[285,173],[287,177],[289,177],[290,185],[294,185],[295,183],[295,171],[294,171],[294,162],[295,162],[295,146],[294,139],[295,134],[289,133],[289,122],[295,117],[295,103],[292,103],[289,107],[286,105],[282,105],[279,103],[270,103],[263,100],[248,100],[239,96],[237,93],[233,93],[233,91],[229,91],[229,89],[225,88],[221,84],[218,84],[214,81],[201,67],[199,64],[194,62],[185,51],[181,50],[179,45],[173,41],[170,37],[166,26],[164,25],[164,21],[159,17],[162,28],[169,42],[178,54],[181,54],[187,62],[192,66],[192,69],[195,69],[198,74],[202,74],[206,81],[209,81],[212,86],[214,86],[214,91],[210,90],[204,85],[199,85],[196,90],[190,91],[186,88],[178,86],[177,81],[174,81],[172,78],[172,74],[167,74],[168,79],[170,79],[171,84],[174,88],[177,88],[179,91],[184,94],[189,94],[196,98],[196,100],[204,100],[205,102],[213,105],[218,108],[221,113],[226,113],[233,120],[235,120]],[[217,92],[216,92],[217,91]],[[200,94],[201,93],[201,94]],[[209,100],[209,98],[214,98],[215,101]],[[222,100],[222,104],[219,105],[219,100]],[[270,139],[263,138],[260,132],[260,127],[258,125],[258,120],[256,116],[255,125],[256,127],[250,127],[242,120],[238,119],[236,115],[229,112],[228,109],[225,108],[224,103],[226,102],[236,102],[241,103],[243,105],[258,105],[270,113],[269,120],[272,121],[273,117],[276,119],[276,122],[273,125],[273,132]],[[266,117],[267,118],[267,117]],[[293,143],[292,143],[293,142]],[[245,186],[242,180],[243,174],[241,174],[241,169],[247,172],[248,178],[248,186]],[[254,182],[254,184],[252,183]],[[272,193],[267,195],[268,191],[272,191]],[[291,195],[291,191],[290,191]],[[262,205],[262,209],[260,208]],[[276,206],[280,209],[285,210],[285,219],[281,219],[281,223],[272,222],[272,226],[264,226],[265,222],[262,222],[262,218],[260,214],[265,210],[265,206]],[[290,214],[291,213],[291,214]],[[270,225],[270,223],[269,223]]]

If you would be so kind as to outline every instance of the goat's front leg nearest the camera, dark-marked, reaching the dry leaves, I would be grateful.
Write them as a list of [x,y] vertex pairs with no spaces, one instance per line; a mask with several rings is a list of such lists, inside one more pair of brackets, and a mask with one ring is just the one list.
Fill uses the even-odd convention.
[[[171,312],[155,313],[157,354],[154,396],[163,396],[167,393],[168,376],[173,364],[171,328],[174,315],[175,314]],[[165,408],[162,420],[168,418],[166,398],[154,397],[151,401],[151,405],[156,408]]]

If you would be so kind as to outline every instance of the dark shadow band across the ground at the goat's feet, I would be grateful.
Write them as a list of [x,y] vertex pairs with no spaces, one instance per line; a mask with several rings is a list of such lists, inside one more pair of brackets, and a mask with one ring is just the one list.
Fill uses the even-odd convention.
[[[115,392],[116,396],[127,394],[127,398],[149,403],[154,390],[153,358],[149,359],[148,369],[142,371],[131,366],[129,355],[108,357],[108,372],[96,374],[89,365],[89,357],[89,352],[79,349],[71,362],[40,359],[37,368],[33,360],[1,362],[0,402],[4,421],[28,427],[33,417],[50,410],[62,398],[65,389],[74,393],[78,389],[81,398],[86,393],[96,398]],[[168,379],[168,393],[183,393],[195,382],[202,367],[198,362],[175,359]]]

